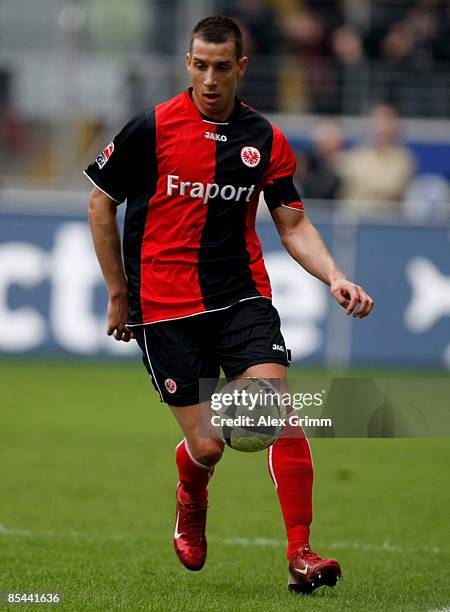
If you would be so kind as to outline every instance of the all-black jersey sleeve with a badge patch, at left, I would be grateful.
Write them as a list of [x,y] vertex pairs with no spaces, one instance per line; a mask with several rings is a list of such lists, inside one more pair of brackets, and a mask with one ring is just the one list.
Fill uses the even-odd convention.
[[[148,157],[152,142],[148,113],[133,117],[84,171],[98,189],[118,204],[139,186],[139,160]],[[154,154],[154,151],[151,152]]]

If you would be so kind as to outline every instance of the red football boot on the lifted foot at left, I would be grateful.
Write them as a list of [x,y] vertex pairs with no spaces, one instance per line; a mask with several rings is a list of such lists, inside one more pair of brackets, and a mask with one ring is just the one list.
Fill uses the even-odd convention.
[[207,504],[184,503],[181,500],[181,485],[177,487],[177,518],[173,544],[181,563],[196,572],[206,560],[206,510]]

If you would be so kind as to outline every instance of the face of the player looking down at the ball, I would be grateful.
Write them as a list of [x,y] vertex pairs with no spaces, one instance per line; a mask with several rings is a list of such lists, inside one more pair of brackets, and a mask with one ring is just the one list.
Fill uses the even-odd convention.
[[247,62],[246,57],[236,58],[233,40],[216,44],[194,38],[192,51],[187,54],[187,68],[194,102],[200,112],[217,121],[231,114],[237,82]]

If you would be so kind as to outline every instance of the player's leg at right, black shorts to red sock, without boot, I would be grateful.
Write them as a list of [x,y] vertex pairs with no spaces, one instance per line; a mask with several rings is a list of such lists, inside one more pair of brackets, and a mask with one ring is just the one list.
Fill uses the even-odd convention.
[[[227,376],[255,376],[276,381],[287,392],[288,350],[279,315],[265,299],[249,300],[223,314],[222,367]],[[302,430],[292,428],[269,449],[269,468],[280,500],[288,552],[309,542],[313,469]]]

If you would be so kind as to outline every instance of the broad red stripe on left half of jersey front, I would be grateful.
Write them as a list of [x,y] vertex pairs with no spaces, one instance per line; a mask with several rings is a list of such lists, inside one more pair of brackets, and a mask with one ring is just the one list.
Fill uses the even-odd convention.
[[[213,132],[215,126],[208,129]],[[187,136],[189,157],[174,156]],[[182,180],[214,182],[215,148],[213,140],[205,139],[204,124],[199,121],[198,112],[195,115],[186,104],[184,94],[156,107],[159,178],[156,193],[149,202],[141,252],[144,321],[206,310],[198,280],[197,254],[207,206],[189,197],[190,185],[185,185],[183,195]]]

